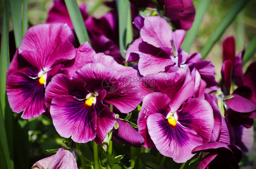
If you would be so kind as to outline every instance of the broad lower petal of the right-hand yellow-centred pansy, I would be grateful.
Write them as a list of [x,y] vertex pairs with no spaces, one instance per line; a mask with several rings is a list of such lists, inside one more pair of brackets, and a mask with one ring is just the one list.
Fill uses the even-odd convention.
[[191,150],[202,144],[202,138],[193,129],[168,124],[162,114],[148,116],[148,133],[161,154],[173,158],[176,163],[184,163],[194,154]]

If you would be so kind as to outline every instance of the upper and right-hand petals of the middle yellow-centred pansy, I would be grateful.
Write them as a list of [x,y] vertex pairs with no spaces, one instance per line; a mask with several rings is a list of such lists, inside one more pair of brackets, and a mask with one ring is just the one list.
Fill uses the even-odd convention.
[[140,91],[131,83],[123,83],[129,76],[100,63],[83,66],[74,74],[87,83],[88,89],[102,88],[107,90],[104,101],[113,104],[122,113],[129,113],[140,103]]

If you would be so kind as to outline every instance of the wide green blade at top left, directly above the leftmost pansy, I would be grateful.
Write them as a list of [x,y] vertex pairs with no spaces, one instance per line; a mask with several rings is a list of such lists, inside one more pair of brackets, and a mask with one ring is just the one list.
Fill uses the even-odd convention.
[[21,0],[10,0],[10,14],[12,19],[15,45],[18,47],[21,44]]

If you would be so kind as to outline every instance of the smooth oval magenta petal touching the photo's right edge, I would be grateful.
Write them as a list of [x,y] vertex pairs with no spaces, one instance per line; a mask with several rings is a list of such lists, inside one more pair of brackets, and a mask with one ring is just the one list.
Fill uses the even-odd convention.
[[234,98],[228,99],[226,101],[226,105],[237,112],[241,113],[247,113],[247,112],[252,112],[256,110],[256,104],[253,103],[252,101],[237,95],[237,94],[232,94]]

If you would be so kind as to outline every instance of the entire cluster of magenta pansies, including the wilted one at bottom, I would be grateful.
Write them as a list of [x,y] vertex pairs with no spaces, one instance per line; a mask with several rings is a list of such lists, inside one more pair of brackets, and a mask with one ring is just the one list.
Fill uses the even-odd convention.
[[[7,71],[11,109],[23,111],[23,119],[46,114],[61,137],[76,143],[102,144],[112,131],[113,141],[156,147],[176,163],[201,152],[200,169],[238,168],[242,151],[253,143],[255,63],[244,75],[244,50],[236,56],[235,40],[227,37],[218,87],[212,63],[180,48],[195,17],[193,2],[144,1],[131,0],[165,10],[167,18],[134,17],[139,37],[126,51],[129,67],[118,47],[115,9],[96,19],[81,6],[91,45],[78,45],[65,3],[56,0],[46,24],[27,31]],[[121,118],[135,109],[138,131]],[[33,168],[77,168],[75,159],[73,150],[59,149]]]

